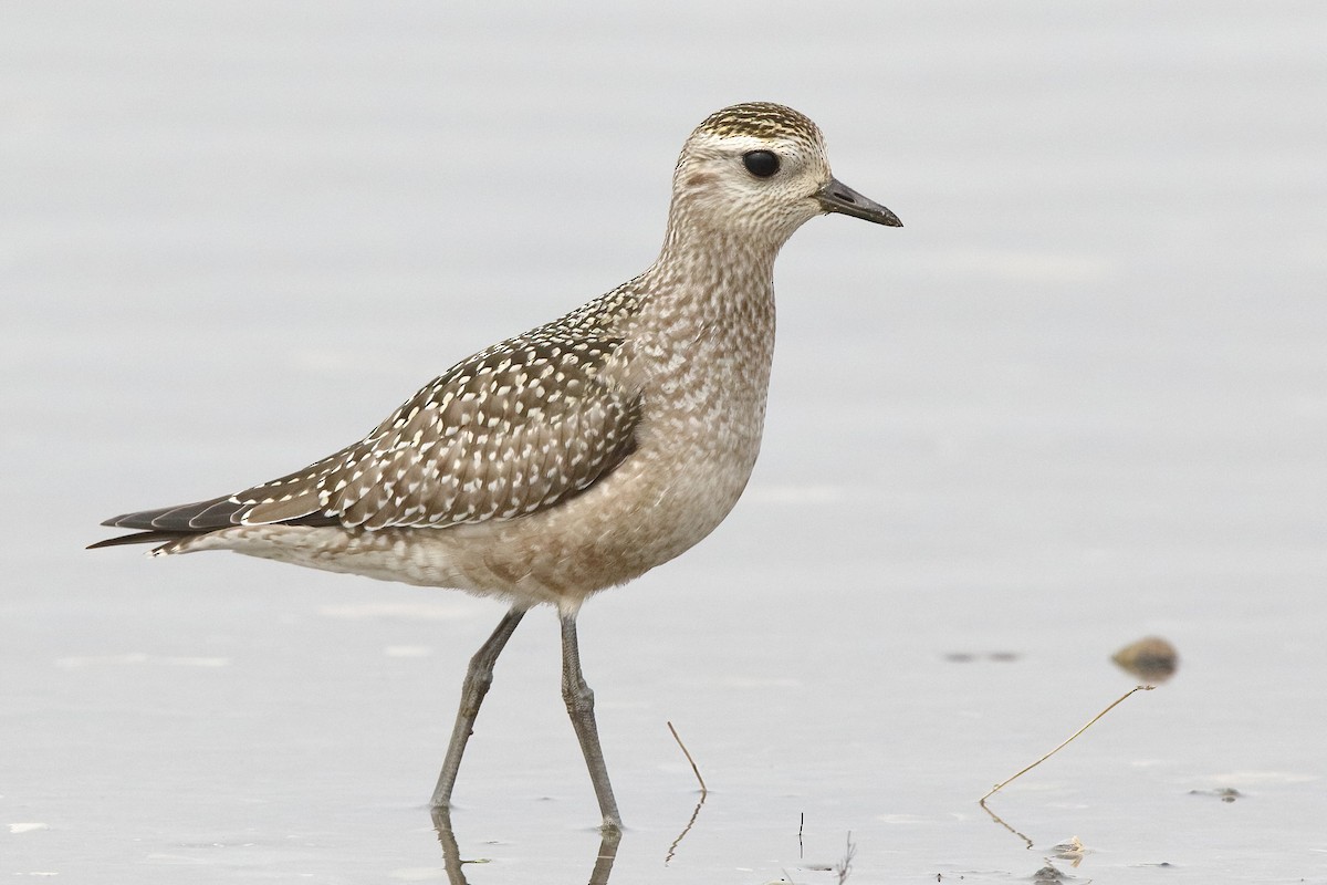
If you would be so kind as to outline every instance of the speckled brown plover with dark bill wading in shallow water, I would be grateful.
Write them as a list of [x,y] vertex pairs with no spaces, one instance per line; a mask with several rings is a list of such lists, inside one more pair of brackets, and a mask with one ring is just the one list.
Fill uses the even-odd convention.
[[451,807],[503,646],[529,609],[556,606],[563,699],[601,828],[620,831],[576,616],[701,541],[736,504],[764,426],[775,257],[831,212],[902,226],[833,176],[804,114],[723,107],[682,146],[664,245],[640,276],[456,362],[303,470],[115,516],[102,524],[134,533],[90,547],[234,551],[504,601],[462,682],[435,811]]

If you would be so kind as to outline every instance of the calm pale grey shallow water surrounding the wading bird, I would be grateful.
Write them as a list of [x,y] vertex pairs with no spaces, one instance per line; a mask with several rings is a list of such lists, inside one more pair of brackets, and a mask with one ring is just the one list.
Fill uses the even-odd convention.
[[[908,227],[799,232],[747,496],[581,616],[612,881],[832,884],[851,840],[851,882],[1327,882],[1323,12],[786,12],[7,15],[0,872],[447,881],[499,606],[81,547],[637,272],[685,134],[763,97]],[[596,868],[555,624],[460,772],[474,885]],[[1148,634],[1176,677],[983,812]]]

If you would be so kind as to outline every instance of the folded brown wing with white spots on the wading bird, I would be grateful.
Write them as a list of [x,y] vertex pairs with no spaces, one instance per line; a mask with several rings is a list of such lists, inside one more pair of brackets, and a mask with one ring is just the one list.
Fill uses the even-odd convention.
[[584,491],[633,451],[640,397],[597,377],[621,344],[557,334],[506,341],[304,470],[105,524],[188,533],[264,523],[378,529],[532,513]]

